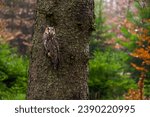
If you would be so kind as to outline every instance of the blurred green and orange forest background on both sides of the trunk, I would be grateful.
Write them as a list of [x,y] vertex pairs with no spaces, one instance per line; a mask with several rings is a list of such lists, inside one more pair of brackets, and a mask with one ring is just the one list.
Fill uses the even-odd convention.
[[[25,99],[36,0],[0,0],[0,99]],[[150,1],[95,0],[89,99],[150,99]]]

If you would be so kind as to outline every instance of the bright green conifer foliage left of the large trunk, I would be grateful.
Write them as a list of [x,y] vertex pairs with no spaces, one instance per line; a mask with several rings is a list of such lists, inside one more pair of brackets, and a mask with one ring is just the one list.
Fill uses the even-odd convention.
[[25,99],[28,59],[0,42],[0,99]]

